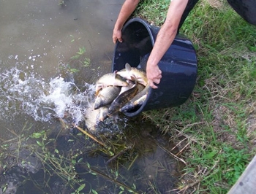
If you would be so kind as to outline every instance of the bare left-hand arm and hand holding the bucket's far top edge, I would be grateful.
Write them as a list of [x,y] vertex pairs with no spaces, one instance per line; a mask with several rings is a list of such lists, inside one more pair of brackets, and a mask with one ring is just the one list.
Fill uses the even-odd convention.
[[121,7],[118,18],[116,20],[115,27],[113,29],[113,42],[114,43],[116,43],[117,40],[119,42],[122,42],[121,29],[123,28],[124,23],[127,21],[129,16],[132,15],[132,12],[136,9],[139,2],[140,2],[140,0],[126,0],[126,1],[124,1],[124,4]]

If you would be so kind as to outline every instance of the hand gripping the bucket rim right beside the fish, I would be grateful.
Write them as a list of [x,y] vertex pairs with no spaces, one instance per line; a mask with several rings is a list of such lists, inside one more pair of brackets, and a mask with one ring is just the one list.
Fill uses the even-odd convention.
[[154,85],[154,83],[159,84],[162,78],[162,71],[159,69],[158,66],[151,66],[150,64],[147,64],[146,74],[148,77],[148,84],[150,85],[150,87],[157,89],[157,85]]

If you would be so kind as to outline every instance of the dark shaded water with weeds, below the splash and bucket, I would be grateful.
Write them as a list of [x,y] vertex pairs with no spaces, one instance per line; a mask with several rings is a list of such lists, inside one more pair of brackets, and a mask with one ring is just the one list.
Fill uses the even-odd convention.
[[8,184],[9,193],[11,187],[13,193],[175,193],[182,165],[170,155],[173,145],[140,119],[127,121],[119,132],[98,134],[106,147],[75,128],[73,133],[53,131],[47,138],[24,141],[19,153],[13,150],[8,156],[7,163],[16,165],[0,176],[1,183]]

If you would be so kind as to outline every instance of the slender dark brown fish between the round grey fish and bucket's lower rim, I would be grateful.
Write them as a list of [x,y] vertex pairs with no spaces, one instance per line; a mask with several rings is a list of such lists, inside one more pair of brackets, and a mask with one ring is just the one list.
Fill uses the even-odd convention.
[[114,115],[116,112],[118,112],[119,109],[124,106],[124,104],[127,104],[127,102],[136,95],[137,91],[138,84],[137,82],[135,82],[132,88],[118,95],[110,104],[110,107],[108,109],[108,116],[110,117],[111,115]]

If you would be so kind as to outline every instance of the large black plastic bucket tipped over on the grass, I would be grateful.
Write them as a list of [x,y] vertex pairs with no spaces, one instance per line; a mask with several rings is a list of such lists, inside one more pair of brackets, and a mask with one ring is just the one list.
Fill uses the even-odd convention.
[[[122,30],[123,42],[116,43],[112,71],[124,69],[126,63],[137,67],[140,59],[151,53],[158,32],[159,27],[151,26],[145,20],[129,20]],[[158,65],[162,71],[158,88],[149,88],[143,105],[124,115],[134,117],[146,110],[179,106],[187,101],[197,77],[197,56],[192,42],[177,35]],[[146,71],[146,63],[142,69]]]

